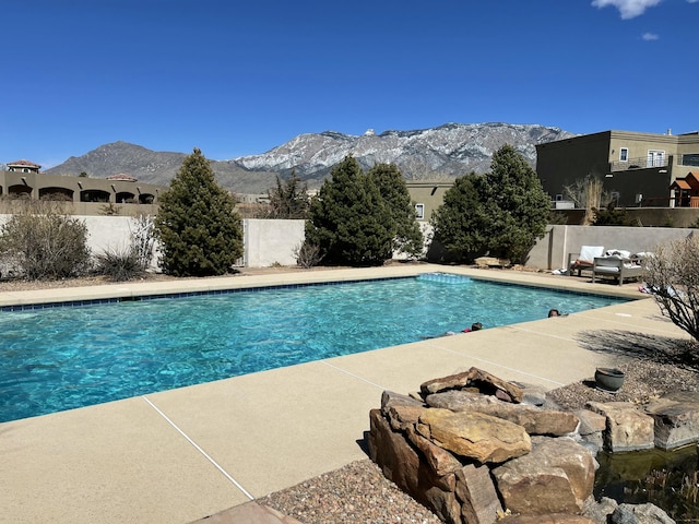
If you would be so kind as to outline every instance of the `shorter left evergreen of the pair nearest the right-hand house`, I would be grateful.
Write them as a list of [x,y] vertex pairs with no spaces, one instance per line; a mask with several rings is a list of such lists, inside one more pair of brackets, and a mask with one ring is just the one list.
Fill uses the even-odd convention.
[[485,252],[485,217],[476,189],[481,178],[473,171],[457,178],[431,217],[435,240],[457,262],[470,262]]

